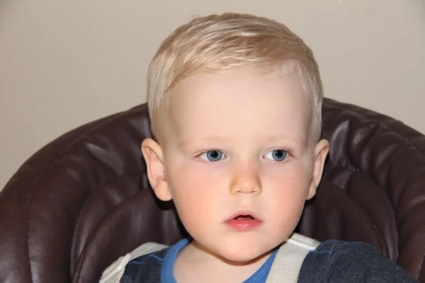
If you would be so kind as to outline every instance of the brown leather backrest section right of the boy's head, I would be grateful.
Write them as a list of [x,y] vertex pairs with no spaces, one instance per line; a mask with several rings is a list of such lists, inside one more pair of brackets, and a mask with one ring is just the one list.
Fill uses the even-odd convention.
[[425,282],[425,136],[402,122],[325,100],[331,144],[316,200],[300,233],[372,243]]

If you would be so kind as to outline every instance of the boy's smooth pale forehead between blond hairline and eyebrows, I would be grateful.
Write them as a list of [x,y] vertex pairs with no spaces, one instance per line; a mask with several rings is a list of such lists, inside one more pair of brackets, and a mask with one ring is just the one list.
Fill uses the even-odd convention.
[[310,117],[297,83],[249,67],[198,72],[171,93],[167,131],[179,142],[285,137],[307,141]]

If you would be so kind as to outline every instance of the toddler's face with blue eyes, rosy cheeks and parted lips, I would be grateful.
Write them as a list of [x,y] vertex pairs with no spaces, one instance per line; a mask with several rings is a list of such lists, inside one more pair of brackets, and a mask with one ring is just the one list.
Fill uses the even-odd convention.
[[285,241],[327,154],[327,143],[309,142],[310,109],[295,84],[246,67],[198,73],[176,86],[167,115],[164,178],[194,240],[238,262]]

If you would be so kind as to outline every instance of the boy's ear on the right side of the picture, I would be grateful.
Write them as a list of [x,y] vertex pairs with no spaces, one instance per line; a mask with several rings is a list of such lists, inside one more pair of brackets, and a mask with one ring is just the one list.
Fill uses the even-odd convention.
[[314,147],[314,165],[312,182],[310,183],[310,189],[307,194],[307,200],[310,200],[316,195],[317,187],[319,186],[320,180],[322,180],[322,173],[324,167],[324,161],[329,152],[329,141],[321,139],[317,142]]

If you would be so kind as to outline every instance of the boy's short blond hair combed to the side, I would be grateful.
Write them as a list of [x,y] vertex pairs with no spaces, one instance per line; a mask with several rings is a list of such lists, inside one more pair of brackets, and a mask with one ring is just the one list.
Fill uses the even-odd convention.
[[196,18],[181,25],[159,47],[149,65],[147,99],[152,131],[159,110],[179,81],[211,64],[293,66],[311,108],[312,138],[322,129],[323,86],[312,50],[282,23],[239,13]]

